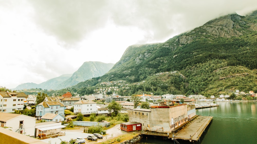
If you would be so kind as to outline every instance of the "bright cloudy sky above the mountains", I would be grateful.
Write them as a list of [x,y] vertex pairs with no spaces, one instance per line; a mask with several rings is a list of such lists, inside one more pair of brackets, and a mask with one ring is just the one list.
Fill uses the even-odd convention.
[[40,84],[86,61],[116,63],[128,46],[253,10],[253,0],[0,0],[0,86]]

